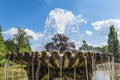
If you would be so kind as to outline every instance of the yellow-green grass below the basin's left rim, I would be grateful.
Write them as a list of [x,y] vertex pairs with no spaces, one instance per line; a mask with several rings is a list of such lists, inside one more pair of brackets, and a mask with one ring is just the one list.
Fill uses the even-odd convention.
[[[4,74],[4,67],[0,67],[0,80],[5,80],[5,74]],[[12,77],[12,73],[14,72],[14,76]],[[21,67],[21,65],[15,64],[14,65],[14,71],[13,66],[10,66],[7,68],[6,73],[6,80],[27,80],[26,71]]]

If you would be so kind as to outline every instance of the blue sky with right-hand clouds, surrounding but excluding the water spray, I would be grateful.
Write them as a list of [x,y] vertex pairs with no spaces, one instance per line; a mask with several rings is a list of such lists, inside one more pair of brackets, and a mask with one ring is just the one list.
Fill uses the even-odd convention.
[[120,37],[120,0],[0,0],[0,25],[4,37],[10,37],[7,31],[11,28],[31,30],[34,37],[39,37],[31,41],[34,47],[41,42],[46,19],[56,8],[70,11],[74,16],[82,15],[87,23],[78,24],[80,41],[86,40],[95,46],[105,45],[110,25],[115,25]]

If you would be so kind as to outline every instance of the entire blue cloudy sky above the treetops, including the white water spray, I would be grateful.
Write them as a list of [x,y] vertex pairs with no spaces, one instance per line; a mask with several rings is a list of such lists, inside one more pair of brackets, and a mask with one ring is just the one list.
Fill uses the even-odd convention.
[[104,46],[111,25],[120,40],[120,0],[0,0],[0,25],[4,39],[25,29],[33,50],[56,33],[78,45]]

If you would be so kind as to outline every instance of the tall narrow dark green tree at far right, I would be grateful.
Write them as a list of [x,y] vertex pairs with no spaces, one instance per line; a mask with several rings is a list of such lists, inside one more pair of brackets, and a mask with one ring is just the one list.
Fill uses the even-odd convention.
[[117,37],[117,32],[114,29],[114,26],[110,26],[110,32],[108,34],[108,51],[112,52],[115,57],[115,61],[119,61],[119,40]]

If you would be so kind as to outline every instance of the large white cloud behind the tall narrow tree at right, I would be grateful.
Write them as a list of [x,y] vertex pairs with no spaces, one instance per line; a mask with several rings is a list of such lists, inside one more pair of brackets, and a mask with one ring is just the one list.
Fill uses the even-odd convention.
[[118,33],[118,38],[120,39],[120,19],[108,19],[102,21],[95,21],[92,23],[92,26],[96,31],[99,31],[104,36],[107,36],[109,33],[109,27],[114,25],[115,30]]

